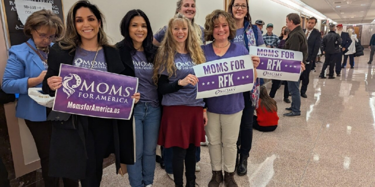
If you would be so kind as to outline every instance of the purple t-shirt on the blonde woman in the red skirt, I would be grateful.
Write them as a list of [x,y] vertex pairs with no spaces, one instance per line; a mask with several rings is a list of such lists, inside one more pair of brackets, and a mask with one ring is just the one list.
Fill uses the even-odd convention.
[[[188,74],[195,75],[194,69],[196,65],[190,58],[189,54],[176,53],[174,55],[174,63],[177,68],[176,73],[169,77],[169,83],[175,82],[179,79],[184,79]],[[161,75],[169,76],[167,71],[164,70]],[[196,85],[188,84],[176,92],[163,95],[161,105],[163,106],[204,106],[203,99],[195,99]]]

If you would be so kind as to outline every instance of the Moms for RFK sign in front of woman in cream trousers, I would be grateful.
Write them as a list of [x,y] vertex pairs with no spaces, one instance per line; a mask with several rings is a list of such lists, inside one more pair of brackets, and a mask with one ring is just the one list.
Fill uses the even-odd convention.
[[250,55],[214,60],[193,67],[198,77],[196,99],[250,91],[254,67]]

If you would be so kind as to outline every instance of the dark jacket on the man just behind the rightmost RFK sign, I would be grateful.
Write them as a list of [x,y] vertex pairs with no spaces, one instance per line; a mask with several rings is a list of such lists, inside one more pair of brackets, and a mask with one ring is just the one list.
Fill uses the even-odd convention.
[[303,54],[302,62],[305,64],[307,59],[307,41],[301,26],[295,27],[288,35],[285,41],[284,49],[300,51]]

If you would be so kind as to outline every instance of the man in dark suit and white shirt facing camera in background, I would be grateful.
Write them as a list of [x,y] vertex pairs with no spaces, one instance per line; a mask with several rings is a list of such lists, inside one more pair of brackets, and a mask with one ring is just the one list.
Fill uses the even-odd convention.
[[315,17],[310,17],[307,20],[307,28],[303,29],[306,34],[307,47],[308,47],[308,56],[306,59],[306,70],[301,74],[300,80],[302,81],[301,86],[301,96],[307,98],[306,90],[309,82],[310,70],[312,64],[314,63],[317,53],[319,52],[321,45],[321,35],[320,32],[314,28],[316,25],[317,19]]

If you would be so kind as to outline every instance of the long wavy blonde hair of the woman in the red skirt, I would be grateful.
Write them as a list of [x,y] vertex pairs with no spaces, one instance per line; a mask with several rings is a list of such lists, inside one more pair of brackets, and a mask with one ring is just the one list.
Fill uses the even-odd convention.
[[177,68],[174,63],[174,55],[177,53],[177,46],[172,34],[172,29],[175,24],[184,24],[188,28],[185,48],[192,61],[195,64],[202,64],[205,62],[203,50],[200,48],[200,43],[198,42],[200,38],[198,38],[197,34],[192,31],[193,28],[190,20],[183,16],[182,13],[177,13],[169,20],[166,35],[161,41],[160,47],[157,49],[152,76],[152,80],[155,84],[157,83],[159,78],[158,74],[160,74],[160,72],[166,70],[169,78],[176,73]]

